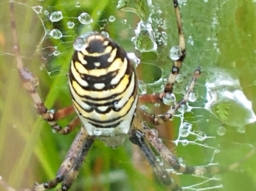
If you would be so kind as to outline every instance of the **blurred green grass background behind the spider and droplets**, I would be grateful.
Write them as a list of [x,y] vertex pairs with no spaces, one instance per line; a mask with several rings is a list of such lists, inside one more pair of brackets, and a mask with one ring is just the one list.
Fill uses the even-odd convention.
[[[129,7],[139,10],[139,14],[120,12],[117,10],[117,4],[120,2],[110,0],[15,1],[15,21],[21,55],[24,64],[38,77],[38,92],[48,108],[60,109],[71,104],[66,73],[72,57],[72,42],[83,32],[103,29],[126,51],[135,52],[145,63],[140,65],[137,71],[139,79],[145,82],[154,82],[161,75],[165,78],[170,72],[169,50],[171,46],[179,43],[173,2],[153,1],[154,7],[148,7],[147,1],[126,2]],[[32,7],[35,10],[40,9],[36,6],[42,7],[42,13],[35,13]],[[47,12],[57,10],[63,12],[64,18],[52,23]],[[166,45],[158,42],[157,51],[145,53],[135,50],[131,37],[134,37],[134,29],[140,20],[138,15],[145,19],[152,10],[153,29],[165,31],[166,34],[162,34],[167,40]],[[77,16],[81,12],[88,12],[91,15],[94,22],[90,26],[78,23]],[[187,165],[208,165],[210,162],[230,165],[250,151],[249,144],[256,143],[255,123],[243,126],[245,132],[239,133],[237,127],[222,123],[215,115],[204,109],[205,84],[212,76],[216,76],[216,73],[224,73],[238,79],[243,93],[252,101],[252,109],[255,109],[255,12],[256,4],[251,0],[183,1],[181,5],[187,58],[181,68],[183,81],[176,84],[175,93],[177,98],[181,98],[191,74],[198,65],[201,65],[201,78],[198,79],[195,88],[198,101],[191,104],[199,109],[186,112],[184,121],[193,124],[195,132],[203,131],[208,137],[213,137],[201,142],[196,141],[201,144],[198,145],[193,142],[195,137],[190,136],[188,139],[192,143],[179,143],[176,146],[172,140],[178,137],[180,118],[159,127],[159,137],[162,137],[173,154]],[[114,22],[108,21],[111,15],[116,18]],[[44,182],[55,177],[76,132],[66,136],[54,134],[49,125],[38,117],[30,95],[22,87],[15,68],[10,9],[6,0],[0,2],[0,19],[0,176],[13,187],[31,187],[35,181]],[[69,29],[66,26],[67,21],[74,21],[75,28]],[[156,21],[165,21],[166,28],[159,27]],[[63,37],[59,40],[49,37],[51,29],[60,29]],[[54,57],[52,54],[56,50],[60,51],[60,54]],[[148,93],[159,90],[162,84],[164,82],[148,85]],[[162,105],[155,109],[150,108],[153,113],[163,113],[168,107]],[[225,114],[231,121],[242,115],[239,108],[235,110]],[[66,125],[71,118],[61,120],[60,124]],[[223,136],[217,133],[219,126],[226,128]],[[220,152],[214,155],[212,161],[217,148]],[[256,190],[255,171],[256,155],[244,162],[235,172],[214,176],[215,179],[188,175],[174,175],[173,178],[185,190]],[[208,181],[200,184],[205,180]],[[191,185],[195,187],[190,187]],[[91,148],[71,190],[130,191],[167,188],[159,181],[154,181],[148,163],[127,140],[123,146],[115,150],[97,141]]]

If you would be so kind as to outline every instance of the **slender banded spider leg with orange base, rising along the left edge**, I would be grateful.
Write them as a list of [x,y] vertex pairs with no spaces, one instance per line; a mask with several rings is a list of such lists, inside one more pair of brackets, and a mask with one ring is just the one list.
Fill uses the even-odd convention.
[[21,51],[18,44],[18,35],[16,30],[16,24],[15,24],[15,12],[14,12],[13,1],[10,1],[10,19],[11,19],[13,43],[14,43],[13,51],[14,51],[14,55],[17,63],[17,69],[18,69],[18,73],[21,78],[22,84],[24,85],[28,93],[30,93],[32,101],[35,104],[35,109],[37,110],[38,114],[41,115],[41,118],[46,120],[49,123],[49,125],[52,126],[52,129],[54,129],[58,133],[68,134],[70,131],[75,129],[75,126],[77,126],[80,122],[75,119],[75,120],[72,120],[72,123],[70,123],[68,126],[61,128],[56,121],[75,113],[75,109],[73,106],[70,106],[55,112],[54,109],[47,109],[45,107],[44,102],[41,100],[40,95],[36,91],[36,88],[38,87],[38,84],[39,84],[38,79],[30,72],[28,68],[24,67],[24,63],[21,59]]

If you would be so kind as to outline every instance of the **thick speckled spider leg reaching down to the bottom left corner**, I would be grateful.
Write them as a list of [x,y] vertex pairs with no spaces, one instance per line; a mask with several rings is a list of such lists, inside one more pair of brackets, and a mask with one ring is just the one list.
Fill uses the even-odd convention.
[[55,188],[60,182],[62,182],[62,186],[59,191],[69,190],[73,181],[76,179],[80,167],[83,164],[86,155],[88,154],[91,145],[94,143],[94,137],[89,136],[87,134],[86,129],[83,127],[80,129],[80,132],[77,133],[75,140],[73,141],[71,147],[69,148],[68,154],[66,154],[66,158],[60,165],[60,169],[55,177],[50,181],[47,181],[43,184],[36,183],[32,189],[22,189],[15,190],[12,187],[8,187],[7,184],[0,179],[0,184],[4,186],[7,191],[43,191]]

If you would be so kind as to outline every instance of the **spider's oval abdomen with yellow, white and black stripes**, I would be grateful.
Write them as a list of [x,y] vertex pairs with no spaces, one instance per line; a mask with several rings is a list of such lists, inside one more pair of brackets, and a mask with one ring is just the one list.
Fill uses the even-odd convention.
[[114,137],[127,134],[137,104],[134,65],[113,40],[92,33],[75,51],[69,71],[73,104],[88,133]]

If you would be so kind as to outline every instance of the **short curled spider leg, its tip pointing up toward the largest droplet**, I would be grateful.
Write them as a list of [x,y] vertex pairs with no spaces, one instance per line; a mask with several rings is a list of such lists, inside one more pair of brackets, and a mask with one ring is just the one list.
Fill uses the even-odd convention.
[[[143,118],[144,120],[147,120],[150,123],[153,123],[154,125],[160,125],[162,123],[165,123],[165,121],[169,120],[173,117],[173,115],[176,113],[176,111],[183,105],[187,103],[187,100],[189,98],[189,95],[191,92],[193,92],[193,88],[195,86],[196,80],[200,76],[201,68],[198,67],[196,71],[193,73],[193,78],[188,85],[187,92],[185,93],[184,97],[179,101],[175,106],[170,107],[170,109],[163,115],[151,115],[148,112],[143,111],[142,109],[138,108],[137,113],[138,115]],[[143,96],[143,95],[142,95]],[[139,103],[141,104],[141,103]]]

